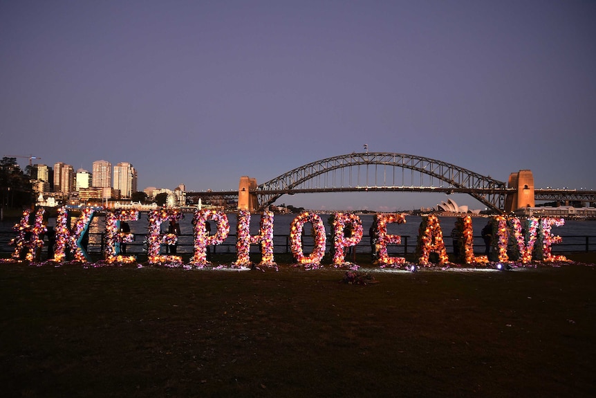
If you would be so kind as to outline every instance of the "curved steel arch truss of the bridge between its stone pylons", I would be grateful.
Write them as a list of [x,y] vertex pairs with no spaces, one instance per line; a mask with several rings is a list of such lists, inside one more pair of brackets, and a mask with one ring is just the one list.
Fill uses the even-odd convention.
[[[360,185],[360,166],[366,166],[366,183],[364,186]],[[375,166],[375,181],[373,186],[369,186],[369,167]],[[378,166],[382,165],[385,169],[387,167],[393,168],[393,184],[386,185],[384,179],[382,186],[377,183]],[[357,184],[354,186],[352,181],[352,172],[348,176],[344,176],[344,169],[357,168]],[[395,168],[402,170],[402,185],[395,185]],[[342,170],[339,177],[336,176],[335,170]],[[411,185],[404,186],[403,172],[404,170],[411,170],[412,178]],[[413,173],[420,173],[420,186],[413,186]],[[328,177],[330,175],[330,177]],[[318,186],[317,180],[325,175],[324,187]],[[385,174],[384,174],[385,175]],[[442,185],[436,190],[434,187],[424,187],[422,180],[423,175],[428,176],[432,181],[438,179],[442,181]],[[313,182],[317,181],[317,182]],[[330,183],[331,186],[328,186]],[[344,184],[347,183],[347,186]],[[447,188],[443,185],[446,184]],[[339,186],[337,186],[339,185]],[[505,208],[505,197],[507,193],[512,193],[514,190],[507,189],[506,183],[497,181],[491,177],[485,177],[471,170],[460,168],[459,166],[436,159],[429,159],[422,156],[413,156],[408,154],[396,154],[391,152],[366,152],[353,153],[341,156],[333,156],[327,159],[322,159],[306,165],[290,170],[281,176],[276,177],[266,183],[262,183],[254,192],[259,198],[259,211],[263,210],[270,204],[274,203],[281,195],[292,194],[298,192],[334,192],[334,191],[369,191],[369,190],[391,190],[391,191],[433,191],[433,192],[447,192],[447,193],[467,193],[481,203],[484,203],[488,208],[503,212]]]

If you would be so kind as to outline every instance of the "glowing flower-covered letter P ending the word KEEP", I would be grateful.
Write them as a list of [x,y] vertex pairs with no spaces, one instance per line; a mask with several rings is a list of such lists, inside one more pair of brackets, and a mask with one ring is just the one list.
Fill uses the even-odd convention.
[[[214,235],[207,234],[205,223],[209,220],[216,223],[217,232]],[[207,261],[207,246],[222,244],[227,235],[230,234],[230,223],[227,220],[227,215],[216,210],[199,210],[194,213],[192,222],[194,224],[194,254],[191,264],[197,267],[211,265],[211,262]]]

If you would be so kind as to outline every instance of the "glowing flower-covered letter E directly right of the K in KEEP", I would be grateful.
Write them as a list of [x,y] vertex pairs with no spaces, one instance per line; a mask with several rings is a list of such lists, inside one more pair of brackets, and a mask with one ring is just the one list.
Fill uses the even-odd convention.
[[108,264],[113,264],[114,262],[129,264],[136,261],[136,257],[133,255],[120,255],[120,244],[133,242],[135,235],[132,233],[122,233],[119,230],[120,221],[137,221],[138,219],[138,210],[106,212],[106,247],[104,248],[104,256]]

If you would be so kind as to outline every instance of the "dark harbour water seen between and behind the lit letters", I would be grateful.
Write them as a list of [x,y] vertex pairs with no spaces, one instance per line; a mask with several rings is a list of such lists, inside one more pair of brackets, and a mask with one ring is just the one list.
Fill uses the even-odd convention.
[[[274,216],[274,252],[283,253],[289,250],[288,235],[290,234],[290,224],[297,215],[275,215]],[[216,248],[216,251],[235,251],[236,244],[236,213],[229,213],[227,215],[228,221],[230,222],[230,236],[227,237],[225,242]],[[322,218],[326,234],[328,237],[331,233],[331,226],[328,222],[330,215],[322,214]],[[357,251],[369,252],[370,251],[370,239],[369,239],[369,228],[373,223],[372,214],[359,215],[362,220],[362,226],[364,229],[364,237],[357,246]],[[180,246],[178,248],[179,253],[191,253],[192,252],[192,214],[187,213],[185,217],[180,221],[181,236],[179,238]],[[250,220],[250,233],[257,234],[259,231],[259,215],[252,215]],[[402,244],[395,245],[389,248],[389,253],[411,253],[416,247],[416,237],[418,236],[418,228],[422,217],[408,215],[406,216],[406,222],[404,224],[389,224],[388,233],[392,235],[402,236]],[[443,236],[445,237],[445,244],[448,247],[451,243],[451,230],[454,228],[456,217],[439,217],[440,226],[443,230]],[[8,240],[15,237],[16,233],[12,230],[15,225],[15,220],[1,221],[0,222],[0,251],[12,251],[12,247],[8,246]],[[212,221],[213,222],[213,221]],[[483,248],[483,241],[480,237],[483,226],[487,223],[485,217],[472,217],[472,224],[474,229],[474,245],[476,251],[480,251]],[[136,235],[136,242],[129,245],[129,253],[142,253],[145,245],[145,235],[147,234],[148,226],[147,213],[142,213],[138,221],[130,221],[131,233]],[[55,226],[55,219],[49,219],[48,225]],[[162,224],[162,231],[167,228],[167,223]],[[90,251],[100,251],[101,245],[101,234],[105,230],[105,219],[104,217],[94,217],[89,228],[89,244]],[[216,230],[215,224],[212,224],[212,233]],[[553,252],[557,251],[596,251],[596,222],[594,221],[579,221],[579,220],[566,220],[564,226],[552,228],[553,235],[559,235],[563,238],[563,241],[559,245],[553,246]],[[304,228],[304,246],[305,252],[308,252],[308,246],[312,246],[312,237],[310,236],[310,224],[306,224]],[[328,239],[328,246],[330,244]],[[258,245],[251,246],[252,252],[259,252]]]

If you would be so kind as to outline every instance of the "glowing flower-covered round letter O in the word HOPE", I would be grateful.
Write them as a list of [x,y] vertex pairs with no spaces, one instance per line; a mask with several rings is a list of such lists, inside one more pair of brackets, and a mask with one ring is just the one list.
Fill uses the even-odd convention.
[[[315,233],[315,247],[310,255],[305,256],[302,249],[302,231],[304,224],[309,223],[313,225]],[[321,260],[325,255],[325,226],[323,220],[319,215],[311,212],[301,212],[290,225],[290,248],[295,260],[302,265],[309,265],[317,268],[321,264]]]

